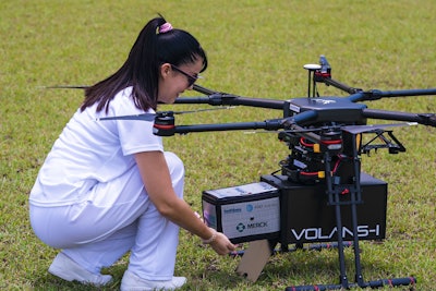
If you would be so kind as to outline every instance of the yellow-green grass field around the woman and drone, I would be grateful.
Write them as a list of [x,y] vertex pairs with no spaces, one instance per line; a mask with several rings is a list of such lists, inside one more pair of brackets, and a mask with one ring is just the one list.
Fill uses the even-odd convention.
[[[80,90],[41,86],[93,84],[124,61],[137,33],[157,12],[192,32],[209,56],[202,85],[241,96],[288,99],[306,94],[305,63],[326,54],[334,77],[364,89],[435,87],[436,4],[419,1],[2,1],[0,3],[0,289],[94,290],[47,272],[56,250],[39,242],[27,197],[52,143],[82,101]],[[343,95],[322,87],[323,95]],[[195,95],[191,93],[187,95]],[[177,109],[198,108],[173,106]],[[169,107],[169,108],[173,108]],[[434,97],[392,98],[371,108],[435,112]],[[164,108],[165,109],[165,108]],[[237,108],[178,118],[178,124],[253,121],[274,110]],[[373,122],[373,121],[371,121]],[[416,290],[436,277],[435,129],[396,130],[407,154],[363,157],[366,172],[389,183],[387,238],[362,243],[365,279],[416,276]],[[278,169],[287,148],[266,134],[202,133],[165,140],[186,167],[186,201],[201,209],[203,190],[258,181]],[[126,257],[105,270],[118,289]],[[185,231],[177,274],[185,290],[283,290],[335,283],[337,253],[271,257],[259,280],[234,269]],[[347,250],[352,280],[352,253]],[[405,289],[405,288],[404,288]]]

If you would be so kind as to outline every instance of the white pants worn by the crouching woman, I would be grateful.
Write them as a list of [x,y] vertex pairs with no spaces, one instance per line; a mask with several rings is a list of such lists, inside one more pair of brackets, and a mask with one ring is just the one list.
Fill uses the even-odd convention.
[[[172,185],[183,197],[184,168],[165,153]],[[129,269],[148,280],[170,280],[175,265],[179,227],[149,201],[136,167],[90,190],[85,203],[62,207],[31,205],[36,235],[92,272],[100,272],[131,251]]]

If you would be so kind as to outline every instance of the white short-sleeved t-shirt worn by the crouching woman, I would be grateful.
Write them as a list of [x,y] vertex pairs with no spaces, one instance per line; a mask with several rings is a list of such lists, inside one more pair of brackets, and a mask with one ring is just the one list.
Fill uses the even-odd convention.
[[[135,167],[133,154],[164,151],[162,138],[153,134],[153,121],[96,120],[145,113],[131,97],[132,88],[118,93],[109,111],[97,104],[77,110],[48,154],[32,189],[29,203],[63,206],[86,201],[97,183],[110,182]],[[153,109],[147,112],[155,113]]]

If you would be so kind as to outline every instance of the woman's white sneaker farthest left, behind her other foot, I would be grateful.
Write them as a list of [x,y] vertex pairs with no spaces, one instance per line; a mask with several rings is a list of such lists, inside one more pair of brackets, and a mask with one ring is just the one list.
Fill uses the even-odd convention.
[[94,274],[84,269],[63,253],[56,256],[48,271],[66,281],[78,281],[96,287],[107,284],[112,280],[110,275]]

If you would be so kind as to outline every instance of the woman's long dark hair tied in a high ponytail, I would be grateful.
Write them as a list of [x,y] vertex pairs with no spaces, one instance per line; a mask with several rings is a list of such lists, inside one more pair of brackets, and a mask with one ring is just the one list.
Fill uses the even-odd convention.
[[159,17],[149,21],[141,31],[124,64],[111,76],[86,88],[81,110],[98,102],[97,111],[108,111],[109,102],[117,93],[132,86],[132,97],[140,109],[156,110],[159,68],[162,63],[181,65],[203,59],[202,72],[207,68],[206,52],[198,41],[182,29],[166,29],[167,21]]

